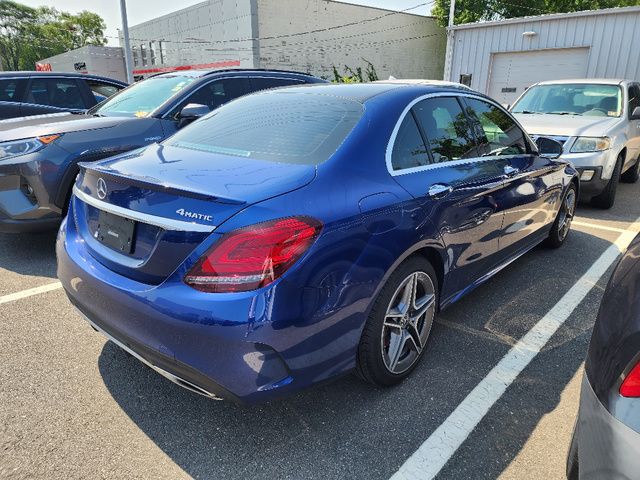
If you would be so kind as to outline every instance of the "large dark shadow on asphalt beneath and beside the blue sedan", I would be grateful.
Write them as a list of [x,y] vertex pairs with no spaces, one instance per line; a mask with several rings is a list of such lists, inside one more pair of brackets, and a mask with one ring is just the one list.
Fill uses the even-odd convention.
[[[388,479],[510,348],[474,332],[520,338],[609,244],[582,232],[570,241],[567,250],[535,249],[443,312],[472,331],[436,324],[421,365],[391,389],[347,376],[238,406],[187,392],[110,342],[100,374],[122,410],[192,477]],[[558,262],[567,268],[559,272]],[[596,310],[590,305],[554,335],[441,478],[496,478],[511,463],[584,360]]]

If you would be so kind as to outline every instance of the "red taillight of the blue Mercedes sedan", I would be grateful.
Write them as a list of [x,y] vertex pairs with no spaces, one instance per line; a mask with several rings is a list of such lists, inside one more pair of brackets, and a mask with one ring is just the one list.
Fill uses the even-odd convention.
[[203,292],[246,292],[280,278],[318,238],[322,224],[292,217],[223,235],[184,277]]

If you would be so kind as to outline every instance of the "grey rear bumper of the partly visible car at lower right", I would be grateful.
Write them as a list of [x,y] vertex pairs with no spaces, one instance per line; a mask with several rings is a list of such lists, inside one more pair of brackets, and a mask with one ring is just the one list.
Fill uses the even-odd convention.
[[581,479],[632,480],[640,472],[640,434],[600,403],[585,375],[576,432]]

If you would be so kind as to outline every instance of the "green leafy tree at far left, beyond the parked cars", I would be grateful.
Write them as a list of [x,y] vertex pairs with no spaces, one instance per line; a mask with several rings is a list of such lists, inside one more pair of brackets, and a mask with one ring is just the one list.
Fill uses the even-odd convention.
[[33,70],[36,61],[85,45],[105,45],[104,20],[97,14],[31,8],[0,0],[0,62],[5,70]]

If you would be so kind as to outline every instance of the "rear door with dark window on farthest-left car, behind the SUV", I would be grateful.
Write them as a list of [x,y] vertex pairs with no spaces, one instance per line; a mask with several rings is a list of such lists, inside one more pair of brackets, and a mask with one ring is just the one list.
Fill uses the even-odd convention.
[[87,107],[81,86],[74,78],[32,77],[27,84],[21,113],[82,111]]

